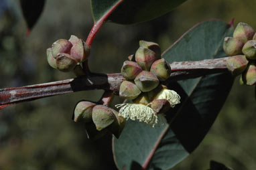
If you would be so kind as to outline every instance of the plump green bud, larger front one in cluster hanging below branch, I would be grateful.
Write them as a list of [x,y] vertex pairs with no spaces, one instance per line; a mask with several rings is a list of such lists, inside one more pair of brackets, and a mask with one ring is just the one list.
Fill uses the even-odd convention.
[[92,121],[96,129],[101,131],[115,121],[115,114],[111,108],[103,105],[97,105],[92,108]]

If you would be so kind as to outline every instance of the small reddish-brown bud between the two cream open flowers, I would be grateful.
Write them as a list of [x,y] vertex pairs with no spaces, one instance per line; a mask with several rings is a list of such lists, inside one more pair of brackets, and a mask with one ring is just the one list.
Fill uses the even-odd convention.
[[153,100],[150,106],[156,113],[165,113],[171,108],[170,102],[166,99]]

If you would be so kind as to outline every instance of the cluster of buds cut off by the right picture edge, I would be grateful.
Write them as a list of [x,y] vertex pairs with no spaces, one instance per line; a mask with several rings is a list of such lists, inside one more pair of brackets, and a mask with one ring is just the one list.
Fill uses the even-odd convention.
[[241,84],[256,85],[256,33],[247,23],[238,23],[233,37],[225,37],[223,49],[227,68],[234,76],[241,74]]

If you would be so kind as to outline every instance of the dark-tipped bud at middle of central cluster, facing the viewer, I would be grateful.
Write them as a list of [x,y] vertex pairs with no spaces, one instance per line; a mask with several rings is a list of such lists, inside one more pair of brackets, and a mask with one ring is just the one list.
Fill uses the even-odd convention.
[[159,84],[157,77],[153,73],[147,71],[139,73],[134,82],[142,92],[149,92]]

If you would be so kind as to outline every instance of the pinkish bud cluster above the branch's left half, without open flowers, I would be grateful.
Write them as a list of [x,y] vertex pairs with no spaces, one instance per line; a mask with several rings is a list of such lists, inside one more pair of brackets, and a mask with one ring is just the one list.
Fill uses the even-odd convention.
[[58,39],[47,49],[47,60],[52,68],[62,72],[74,70],[76,65],[88,59],[90,48],[82,40],[71,35],[70,39]]

